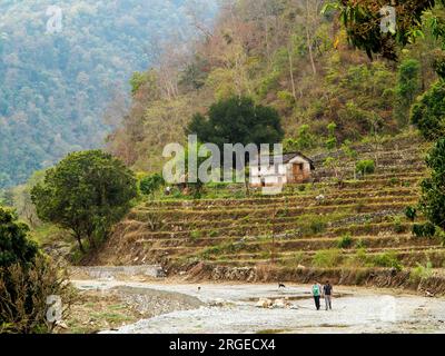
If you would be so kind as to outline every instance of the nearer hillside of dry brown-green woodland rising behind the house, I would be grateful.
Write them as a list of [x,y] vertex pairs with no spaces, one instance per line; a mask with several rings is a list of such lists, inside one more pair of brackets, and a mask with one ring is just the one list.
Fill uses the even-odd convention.
[[438,44],[427,28],[398,61],[370,60],[334,11],[323,13],[326,1],[230,3],[205,40],[189,43],[194,60],[169,56],[134,81],[132,107],[109,149],[135,169],[159,171],[162,147],[185,139],[192,115],[231,95],[278,109],[287,149],[307,151],[325,147],[332,122],[338,142],[406,128],[409,107],[437,78]]

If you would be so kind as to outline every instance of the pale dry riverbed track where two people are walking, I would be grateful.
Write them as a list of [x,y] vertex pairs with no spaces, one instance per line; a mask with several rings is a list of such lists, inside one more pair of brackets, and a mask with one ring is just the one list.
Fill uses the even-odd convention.
[[[445,299],[394,296],[390,291],[336,288],[334,310],[316,312],[308,286],[278,290],[276,285],[205,284],[198,290],[198,285],[171,283],[81,280],[75,285],[83,290],[125,287],[145,295],[166,293],[166,298],[202,301],[194,309],[158,315],[108,333],[445,333]],[[287,298],[291,308],[258,308],[260,298]]]

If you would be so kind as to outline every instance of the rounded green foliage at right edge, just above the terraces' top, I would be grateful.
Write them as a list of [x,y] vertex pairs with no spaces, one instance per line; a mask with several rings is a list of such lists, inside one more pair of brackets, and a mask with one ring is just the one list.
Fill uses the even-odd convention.
[[428,140],[445,135],[445,81],[439,80],[413,106],[412,122]]

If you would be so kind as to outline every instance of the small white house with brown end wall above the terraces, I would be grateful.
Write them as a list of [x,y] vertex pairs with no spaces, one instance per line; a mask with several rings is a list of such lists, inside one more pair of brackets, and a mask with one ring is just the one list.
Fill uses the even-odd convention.
[[[277,164],[278,162],[278,164]],[[306,156],[294,152],[281,157],[270,157],[269,167],[250,167],[253,187],[274,187],[310,181],[314,162]]]

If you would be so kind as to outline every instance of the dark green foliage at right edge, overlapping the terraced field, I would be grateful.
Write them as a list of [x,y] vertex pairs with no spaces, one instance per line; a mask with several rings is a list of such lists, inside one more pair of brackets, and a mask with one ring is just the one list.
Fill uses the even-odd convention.
[[427,158],[432,177],[422,182],[421,209],[428,220],[445,230],[445,138],[439,139]]

